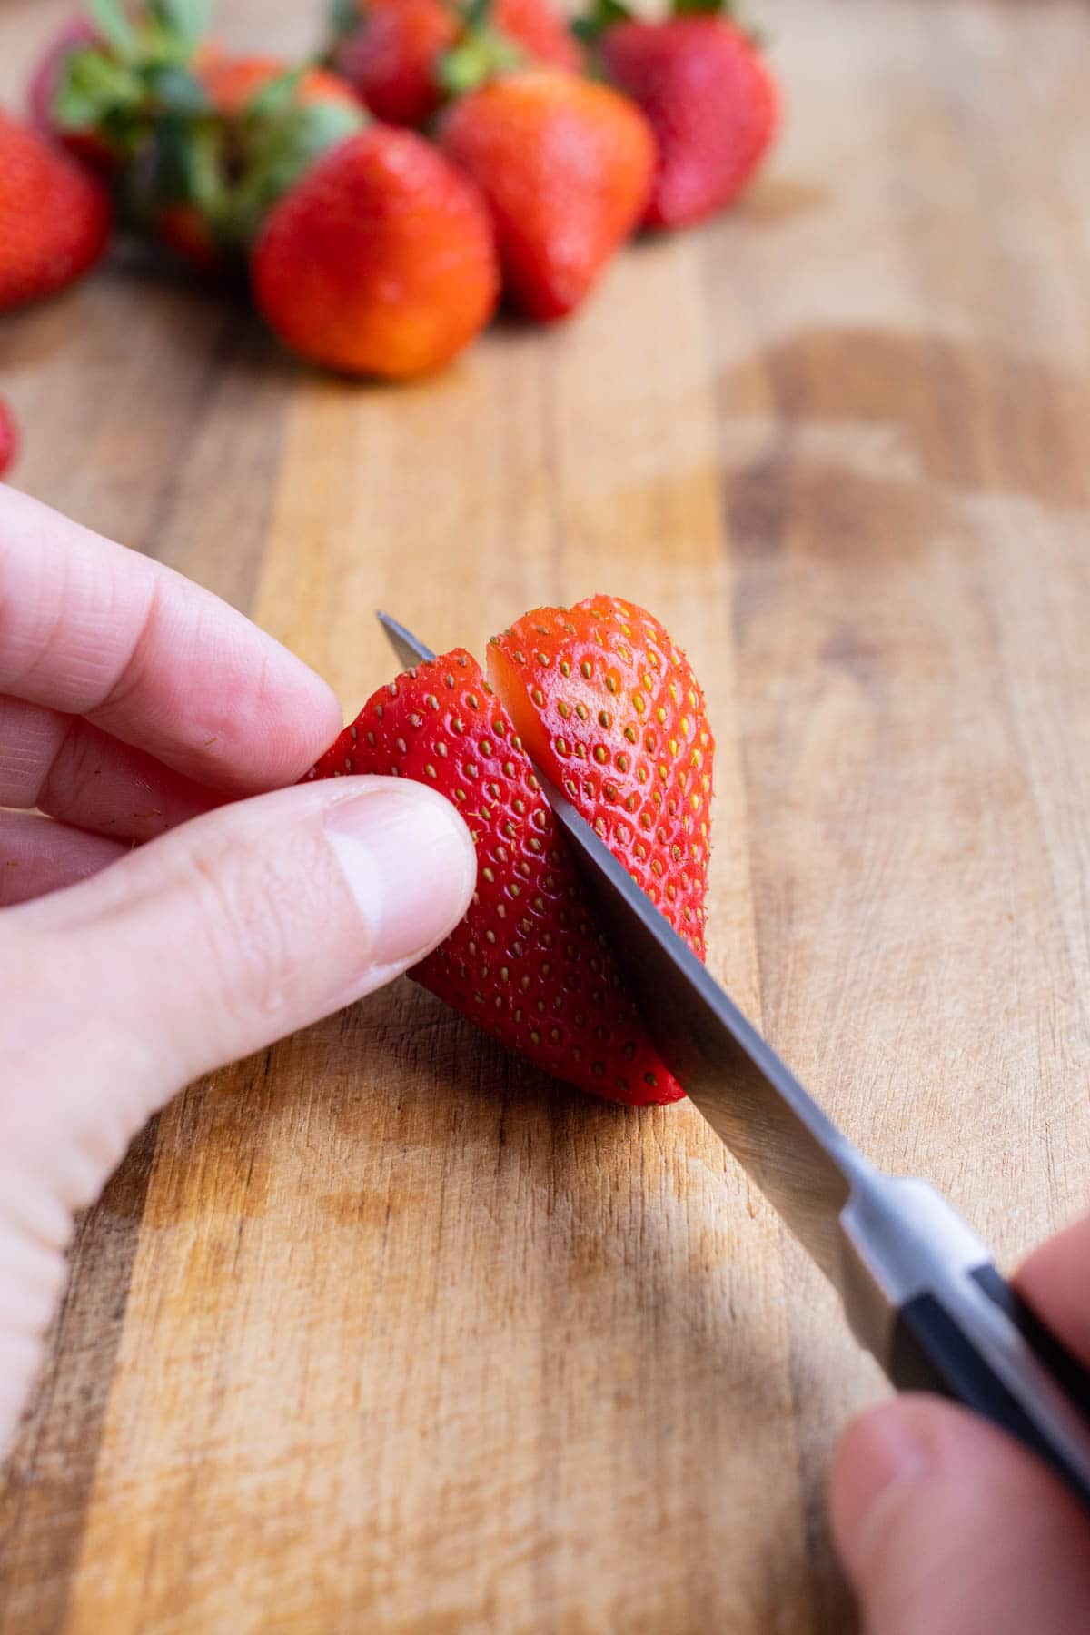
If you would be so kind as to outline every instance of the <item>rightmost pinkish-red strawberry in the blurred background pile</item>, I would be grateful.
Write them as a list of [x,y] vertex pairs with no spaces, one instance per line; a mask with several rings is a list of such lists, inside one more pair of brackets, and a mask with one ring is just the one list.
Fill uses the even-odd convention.
[[765,157],[780,95],[763,57],[726,16],[616,23],[600,44],[606,78],[639,103],[659,142],[652,227],[729,204]]

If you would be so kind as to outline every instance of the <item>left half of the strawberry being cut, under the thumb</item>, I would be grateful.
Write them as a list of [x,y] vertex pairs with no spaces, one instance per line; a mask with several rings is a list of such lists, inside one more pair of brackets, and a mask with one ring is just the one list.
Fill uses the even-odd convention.
[[431,783],[466,818],[479,875],[469,914],[413,976],[510,1050],[634,1105],[683,1091],[600,937],[511,719],[456,649],[382,687],[309,777]]

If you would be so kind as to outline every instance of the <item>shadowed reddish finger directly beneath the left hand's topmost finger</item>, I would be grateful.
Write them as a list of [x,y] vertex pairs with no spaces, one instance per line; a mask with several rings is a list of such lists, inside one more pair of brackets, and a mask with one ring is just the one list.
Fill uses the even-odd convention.
[[78,716],[20,698],[0,698],[0,804],[119,840],[152,840],[227,800]]

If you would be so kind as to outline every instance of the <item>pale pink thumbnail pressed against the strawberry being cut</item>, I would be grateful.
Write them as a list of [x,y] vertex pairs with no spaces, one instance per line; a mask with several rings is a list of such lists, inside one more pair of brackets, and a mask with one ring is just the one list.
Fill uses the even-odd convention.
[[412,965],[466,912],[476,853],[441,796],[376,783],[332,806],[325,831],[373,929],[374,965]]

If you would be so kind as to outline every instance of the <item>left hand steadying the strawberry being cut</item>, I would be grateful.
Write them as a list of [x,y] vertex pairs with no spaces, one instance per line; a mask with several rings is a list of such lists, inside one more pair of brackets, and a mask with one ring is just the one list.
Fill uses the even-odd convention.
[[239,613],[0,487],[0,1452],[72,1212],[145,1118],[469,906],[472,842],[431,790],[284,788],[338,731]]

